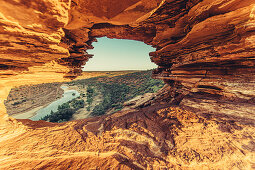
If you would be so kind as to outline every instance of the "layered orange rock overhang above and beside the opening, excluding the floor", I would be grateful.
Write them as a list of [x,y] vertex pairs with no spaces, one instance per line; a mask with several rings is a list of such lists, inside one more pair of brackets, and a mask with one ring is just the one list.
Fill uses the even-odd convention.
[[[86,50],[103,36],[156,47],[153,77],[181,83],[185,96],[253,100],[254,11],[251,0],[3,1],[2,101],[13,86],[81,75],[93,56]],[[249,84],[246,94],[237,95],[240,83]]]

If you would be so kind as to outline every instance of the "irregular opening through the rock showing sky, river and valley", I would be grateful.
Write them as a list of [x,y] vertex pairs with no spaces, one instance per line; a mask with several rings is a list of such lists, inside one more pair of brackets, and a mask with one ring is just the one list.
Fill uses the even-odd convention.
[[16,119],[65,122],[138,107],[128,101],[141,96],[145,104],[163,87],[163,81],[151,78],[157,67],[149,57],[153,47],[106,37],[92,45],[87,52],[94,57],[83,66],[79,80],[12,89],[5,103],[7,113]]

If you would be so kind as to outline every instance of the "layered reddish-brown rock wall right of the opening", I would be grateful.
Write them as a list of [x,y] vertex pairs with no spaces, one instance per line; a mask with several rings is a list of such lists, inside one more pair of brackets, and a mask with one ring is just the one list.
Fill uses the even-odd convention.
[[154,39],[182,37],[151,53],[155,77],[181,82],[185,108],[254,119],[254,4],[206,2]]

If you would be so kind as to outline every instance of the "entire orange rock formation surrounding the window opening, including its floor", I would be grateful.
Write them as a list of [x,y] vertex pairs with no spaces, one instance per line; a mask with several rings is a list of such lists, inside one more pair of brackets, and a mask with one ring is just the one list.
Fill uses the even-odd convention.
[[[188,111],[8,118],[12,87],[75,78],[103,36],[156,47],[158,99]],[[1,169],[255,168],[254,0],[2,0],[0,38]]]

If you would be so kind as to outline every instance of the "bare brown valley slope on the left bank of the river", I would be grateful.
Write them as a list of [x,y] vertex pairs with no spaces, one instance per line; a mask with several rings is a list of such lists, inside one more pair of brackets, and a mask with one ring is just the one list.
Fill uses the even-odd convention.
[[47,83],[12,89],[5,101],[7,113],[15,118],[31,117],[41,107],[62,97],[64,90],[60,88],[61,84]]

